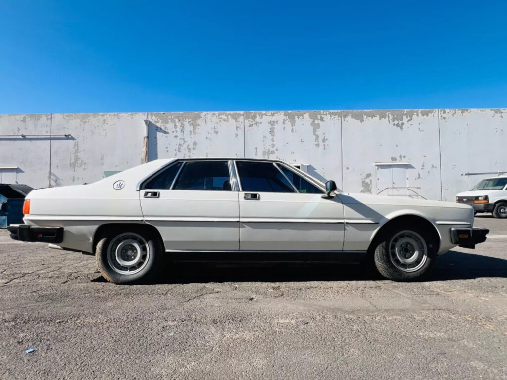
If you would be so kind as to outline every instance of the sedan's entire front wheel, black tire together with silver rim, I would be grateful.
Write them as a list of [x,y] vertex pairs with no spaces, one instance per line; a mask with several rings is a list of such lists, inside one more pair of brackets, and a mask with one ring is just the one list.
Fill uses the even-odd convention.
[[[382,276],[393,281],[420,280],[437,256],[437,244],[422,225],[393,225],[382,233],[376,244],[375,266]],[[413,263],[401,261],[414,258]]]

